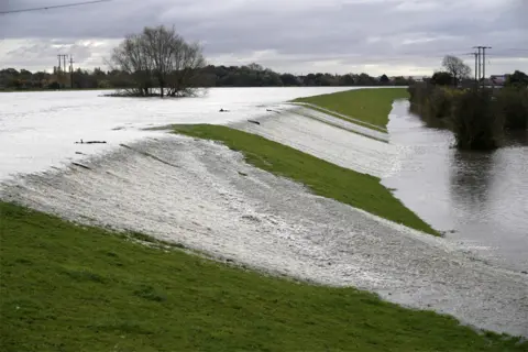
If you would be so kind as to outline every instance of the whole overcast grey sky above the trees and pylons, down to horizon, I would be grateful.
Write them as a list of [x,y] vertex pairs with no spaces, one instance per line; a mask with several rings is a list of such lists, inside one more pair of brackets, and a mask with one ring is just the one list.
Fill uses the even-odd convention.
[[[84,0],[0,0],[0,12]],[[86,0],[85,0],[86,1]],[[0,67],[52,69],[57,54],[105,66],[125,34],[175,25],[212,64],[278,72],[429,75],[444,54],[486,73],[528,72],[528,0],[113,0],[0,14]]]

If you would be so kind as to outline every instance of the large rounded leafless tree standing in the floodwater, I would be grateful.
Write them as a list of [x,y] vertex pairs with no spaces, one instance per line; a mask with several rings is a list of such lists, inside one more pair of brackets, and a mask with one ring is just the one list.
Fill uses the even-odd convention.
[[174,26],[161,25],[127,36],[114,48],[109,64],[134,78],[134,87],[125,95],[152,96],[158,88],[163,98],[191,95],[206,59],[201,46],[187,43]]

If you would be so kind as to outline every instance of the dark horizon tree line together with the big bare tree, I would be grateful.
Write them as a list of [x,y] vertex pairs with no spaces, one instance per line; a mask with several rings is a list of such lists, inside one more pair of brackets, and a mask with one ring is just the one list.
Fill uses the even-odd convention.
[[373,77],[365,73],[334,75],[280,74],[258,64],[208,65],[202,48],[186,42],[174,28],[145,28],[128,35],[107,62],[109,69],[77,68],[74,73],[0,70],[0,89],[105,89],[131,96],[186,96],[197,87],[408,86],[410,77]]

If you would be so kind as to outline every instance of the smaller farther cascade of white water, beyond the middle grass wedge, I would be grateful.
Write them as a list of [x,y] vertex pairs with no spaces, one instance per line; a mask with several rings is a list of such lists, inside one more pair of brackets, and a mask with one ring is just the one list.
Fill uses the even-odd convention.
[[[310,118],[308,118],[310,117]],[[387,134],[361,128],[353,123],[308,111],[304,107],[283,108],[280,113],[258,119],[260,124],[248,121],[231,127],[262,135],[292,146],[336,165],[384,177],[399,168],[399,150],[389,143],[373,140],[388,139]]]

